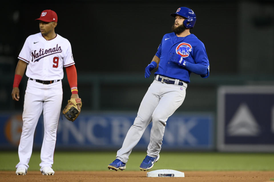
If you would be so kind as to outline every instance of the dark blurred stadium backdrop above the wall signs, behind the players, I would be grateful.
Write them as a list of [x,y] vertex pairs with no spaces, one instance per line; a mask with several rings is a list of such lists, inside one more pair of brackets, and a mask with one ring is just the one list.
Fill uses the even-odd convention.
[[[26,38],[39,32],[35,19],[51,9],[58,15],[55,32],[71,43],[82,110],[137,113],[153,81],[153,76],[144,78],[144,69],[162,36],[171,32],[170,13],[182,6],[196,13],[191,33],[206,47],[210,76],[203,79],[192,73],[179,111],[215,112],[220,85],[273,84],[273,1],[5,3],[0,7],[0,110],[23,110],[26,76],[19,86],[20,101],[11,98],[17,57]],[[70,97],[64,75],[63,106]]]

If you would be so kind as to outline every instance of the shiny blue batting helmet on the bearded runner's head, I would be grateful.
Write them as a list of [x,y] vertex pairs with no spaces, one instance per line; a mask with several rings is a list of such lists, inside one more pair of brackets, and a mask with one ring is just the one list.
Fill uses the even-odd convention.
[[173,17],[176,17],[176,15],[185,17],[186,20],[184,20],[183,24],[186,28],[193,28],[196,22],[196,15],[194,11],[187,7],[180,7],[177,9],[176,13],[171,13],[170,15]]

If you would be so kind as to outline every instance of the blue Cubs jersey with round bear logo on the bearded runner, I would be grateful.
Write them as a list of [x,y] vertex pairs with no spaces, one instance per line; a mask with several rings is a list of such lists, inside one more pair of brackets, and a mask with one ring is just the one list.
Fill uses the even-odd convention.
[[206,48],[194,34],[177,37],[172,32],[164,35],[156,52],[156,56],[160,58],[160,63],[155,75],[183,80],[186,83],[190,82],[191,71],[169,61],[170,56],[173,54],[181,55],[189,63],[209,66]]

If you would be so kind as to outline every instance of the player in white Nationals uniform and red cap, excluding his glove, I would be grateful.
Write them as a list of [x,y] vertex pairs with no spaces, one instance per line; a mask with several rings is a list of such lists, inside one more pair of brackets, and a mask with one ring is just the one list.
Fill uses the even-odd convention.
[[[71,98],[79,98],[77,73],[74,66],[70,42],[55,33],[57,14],[44,10],[39,20],[41,33],[29,36],[19,54],[12,90],[13,100],[19,100],[19,83],[26,71],[29,77],[25,92],[23,128],[18,148],[20,162],[16,174],[25,175],[33,148],[33,136],[38,119],[43,111],[44,139],[41,148],[40,171],[43,175],[54,175],[51,168],[56,144],[56,132],[60,117],[63,89],[63,67],[66,67]],[[78,107],[80,109],[80,107]]]

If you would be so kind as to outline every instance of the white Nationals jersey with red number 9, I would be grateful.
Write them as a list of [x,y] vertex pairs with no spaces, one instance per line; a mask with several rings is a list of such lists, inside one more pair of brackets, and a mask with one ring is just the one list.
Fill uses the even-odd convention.
[[29,36],[18,58],[28,63],[27,77],[37,80],[62,80],[63,66],[75,64],[70,42],[58,34],[51,40],[41,33]]

